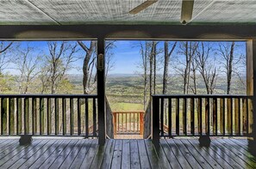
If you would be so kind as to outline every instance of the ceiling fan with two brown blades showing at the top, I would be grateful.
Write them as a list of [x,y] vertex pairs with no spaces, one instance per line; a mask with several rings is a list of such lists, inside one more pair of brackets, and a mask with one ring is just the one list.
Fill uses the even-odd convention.
[[[141,3],[139,6],[129,11],[129,14],[135,15],[138,14],[141,10],[147,9],[149,6],[153,5],[153,3],[158,2],[158,0],[147,0],[144,3]],[[194,0],[182,0],[181,7],[181,16],[180,22],[182,24],[187,24],[191,18],[193,13]]]

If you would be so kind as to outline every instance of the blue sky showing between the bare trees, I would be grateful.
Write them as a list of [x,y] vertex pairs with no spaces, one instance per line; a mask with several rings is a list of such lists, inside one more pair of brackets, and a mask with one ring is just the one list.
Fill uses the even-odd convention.
[[[144,41],[144,40],[142,40]],[[72,41],[74,43],[75,41]],[[30,42],[18,42],[21,47],[26,47],[27,45],[34,47],[34,55],[49,54],[47,41],[30,41]],[[89,45],[89,41],[84,41],[85,45]],[[212,43],[216,45],[216,43]],[[164,48],[164,41],[159,42],[159,48]],[[178,46],[176,47],[178,50]],[[178,51],[174,51],[174,55],[179,55]],[[140,56],[140,40],[116,40],[115,47],[111,51],[114,56],[112,62],[114,63],[113,69],[109,71],[109,74],[136,74],[142,72],[140,69],[141,56]],[[246,43],[238,42],[238,53],[246,53]],[[74,63],[76,69],[71,69],[68,73],[70,74],[82,74],[83,57],[84,51],[81,50],[77,53],[81,58]],[[160,54],[160,55],[163,55]],[[6,71],[11,72],[11,74],[16,74],[16,70],[12,69],[14,65],[10,64]],[[160,69],[161,70],[161,69]]]

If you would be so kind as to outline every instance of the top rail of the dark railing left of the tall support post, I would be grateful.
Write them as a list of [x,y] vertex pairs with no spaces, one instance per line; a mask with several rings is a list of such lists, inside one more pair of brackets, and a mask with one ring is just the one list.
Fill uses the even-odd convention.
[[97,94],[0,94],[0,98],[97,98]]

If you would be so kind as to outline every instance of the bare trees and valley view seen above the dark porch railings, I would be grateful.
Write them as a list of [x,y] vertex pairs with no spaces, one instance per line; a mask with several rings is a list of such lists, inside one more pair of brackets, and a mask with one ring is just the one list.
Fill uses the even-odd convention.
[[[245,42],[132,44],[140,62],[129,75],[111,73],[119,40],[105,44],[106,94],[114,110],[144,109],[151,94],[247,94]],[[93,40],[0,42],[1,94],[97,94],[96,68]]]

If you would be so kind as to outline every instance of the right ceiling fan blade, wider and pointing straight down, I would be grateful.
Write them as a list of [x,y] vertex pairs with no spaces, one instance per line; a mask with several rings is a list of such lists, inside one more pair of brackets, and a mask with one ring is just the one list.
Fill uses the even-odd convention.
[[194,0],[183,0],[181,7],[180,22],[183,24],[188,23],[192,19],[194,7]]

